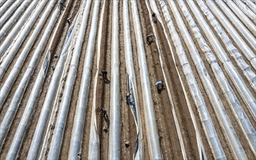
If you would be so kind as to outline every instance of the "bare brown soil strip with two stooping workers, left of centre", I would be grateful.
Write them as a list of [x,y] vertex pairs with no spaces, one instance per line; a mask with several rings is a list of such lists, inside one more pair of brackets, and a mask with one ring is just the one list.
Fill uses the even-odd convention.
[[[112,26],[112,1],[106,1],[105,4],[105,13],[104,13],[104,22],[102,30],[102,42],[101,42],[101,60],[100,60],[100,71],[102,69],[108,72],[107,79],[111,81],[111,26]],[[110,82],[111,83],[111,82]],[[102,76],[98,79],[97,85],[97,100],[101,98],[101,101],[98,101],[98,114],[97,123],[98,123],[98,134],[100,138],[100,159],[108,159],[109,155],[109,132],[104,132],[104,127],[107,127],[108,124],[104,120],[104,117],[101,117],[100,109],[105,108],[107,114],[109,115],[110,111],[110,84],[105,84]],[[96,109],[97,110],[97,109]]]

